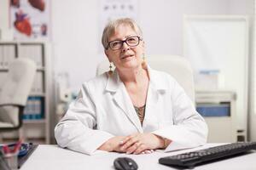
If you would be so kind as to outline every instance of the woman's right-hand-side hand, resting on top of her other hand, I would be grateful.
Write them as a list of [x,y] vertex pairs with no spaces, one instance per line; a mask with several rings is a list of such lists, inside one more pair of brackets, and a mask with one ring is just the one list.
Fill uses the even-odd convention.
[[125,137],[120,150],[127,154],[143,154],[163,148],[164,145],[164,139],[153,133],[135,133]]

